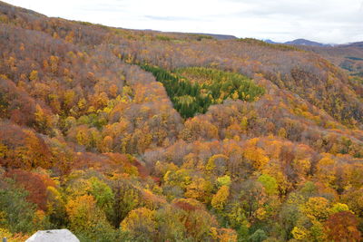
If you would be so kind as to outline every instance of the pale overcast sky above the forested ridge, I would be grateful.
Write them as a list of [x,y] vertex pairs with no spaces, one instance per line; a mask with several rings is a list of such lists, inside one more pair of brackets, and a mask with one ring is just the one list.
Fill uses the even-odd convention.
[[132,29],[285,42],[363,41],[363,0],[5,0],[48,16]]

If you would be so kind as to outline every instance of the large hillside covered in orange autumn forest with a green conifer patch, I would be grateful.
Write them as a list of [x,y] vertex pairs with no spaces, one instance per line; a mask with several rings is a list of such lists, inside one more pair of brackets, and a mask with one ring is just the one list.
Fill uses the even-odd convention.
[[0,237],[359,241],[357,46],[0,23]]

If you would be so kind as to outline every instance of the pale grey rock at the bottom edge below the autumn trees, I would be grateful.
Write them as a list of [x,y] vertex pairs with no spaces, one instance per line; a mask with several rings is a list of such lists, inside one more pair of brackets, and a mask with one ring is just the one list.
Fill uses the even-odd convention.
[[68,229],[39,230],[25,242],[80,242]]

